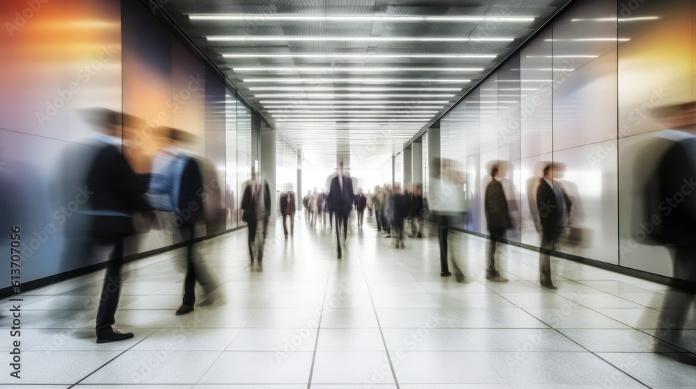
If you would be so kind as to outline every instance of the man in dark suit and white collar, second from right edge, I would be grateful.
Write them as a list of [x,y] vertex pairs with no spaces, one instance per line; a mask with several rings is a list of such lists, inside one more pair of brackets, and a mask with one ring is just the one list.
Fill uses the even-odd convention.
[[570,198],[562,188],[553,181],[560,179],[563,165],[550,163],[544,167],[544,177],[537,186],[537,209],[541,222],[541,250],[539,254],[539,281],[544,288],[555,289],[551,281],[551,250],[563,229],[568,224],[568,217],[573,206]]

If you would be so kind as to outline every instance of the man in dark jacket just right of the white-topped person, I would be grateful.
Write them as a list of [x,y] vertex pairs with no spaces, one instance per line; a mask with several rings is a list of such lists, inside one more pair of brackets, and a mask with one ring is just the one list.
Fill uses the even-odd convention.
[[491,166],[491,182],[486,187],[486,197],[484,208],[488,231],[491,239],[488,246],[488,265],[486,269],[486,279],[489,281],[505,282],[507,279],[500,276],[496,267],[496,248],[498,240],[505,238],[505,230],[512,227],[510,212],[505,198],[503,184],[500,183],[507,174],[505,163],[496,162]]

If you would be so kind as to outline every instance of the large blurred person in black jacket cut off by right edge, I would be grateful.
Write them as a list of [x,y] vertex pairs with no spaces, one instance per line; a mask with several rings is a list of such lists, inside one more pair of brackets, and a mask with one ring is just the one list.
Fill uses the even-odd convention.
[[[678,104],[663,107],[655,111],[656,117],[667,128],[687,131],[681,137],[672,137],[674,142],[667,147],[653,179],[649,181],[650,188],[646,192],[656,192],[656,197],[646,197],[647,214],[650,221],[643,224],[654,224],[651,238],[670,247],[675,279],[691,281],[690,300],[693,306],[696,292],[693,282],[696,281],[696,138],[690,135],[693,126],[694,103]],[[681,138],[681,139],[679,139]],[[658,203],[659,201],[659,203]],[[659,221],[659,223],[656,223]],[[664,302],[664,310],[660,317],[659,329],[656,333],[673,345],[683,344],[683,328],[688,320],[685,295],[670,292]],[[676,308],[670,311],[666,308]],[[673,315],[674,313],[674,315]],[[655,352],[673,358],[682,363],[696,365],[696,357],[690,354],[674,354],[673,349],[658,343]]]

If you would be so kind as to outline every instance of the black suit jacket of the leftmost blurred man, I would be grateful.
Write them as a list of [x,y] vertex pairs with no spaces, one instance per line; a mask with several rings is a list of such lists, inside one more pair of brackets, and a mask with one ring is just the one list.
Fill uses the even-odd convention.
[[112,239],[135,233],[132,214],[152,210],[143,194],[150,184],[149,174],[136,174],[123,154],[111,144],[103,144],[95,154],[87,174],[88,214],[97,238]]

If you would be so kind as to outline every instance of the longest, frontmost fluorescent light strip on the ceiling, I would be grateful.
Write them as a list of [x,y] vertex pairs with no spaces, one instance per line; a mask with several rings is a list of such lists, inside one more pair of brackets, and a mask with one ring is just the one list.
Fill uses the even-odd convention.
[[374,15],[258,15],[219,14],[189,15],[191,20],[253,20],[295,22],[534,22],[535,17],[491,17],[491,16],[374,16]]

